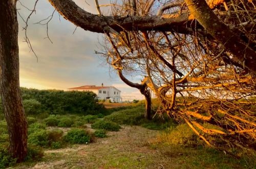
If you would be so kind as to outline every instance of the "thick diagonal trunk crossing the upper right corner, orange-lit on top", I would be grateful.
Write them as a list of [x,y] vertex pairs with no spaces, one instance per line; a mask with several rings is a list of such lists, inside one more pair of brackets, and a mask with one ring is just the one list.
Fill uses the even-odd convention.
[[199,21],[209,34],[218,40],[233,54],[244,68],[256,74],[256,52],[247,40],[240,37],[239,32],[233,32],[211,11],[205,0],[184,0],[192,15]]

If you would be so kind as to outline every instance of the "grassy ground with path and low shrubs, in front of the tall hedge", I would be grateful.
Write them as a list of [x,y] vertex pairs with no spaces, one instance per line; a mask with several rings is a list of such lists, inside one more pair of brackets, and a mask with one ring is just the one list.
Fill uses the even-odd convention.
[[[197,146],[198,143],[204,144],[186,125],[178,125],[166,116],[144,119],[145,109],[140,104],[110,109],[108,111],[112,113],[106,116],[66,114],[45,115],[42,119],[29,117],[30,154],[26,162],[16,164],[14,168],[33,166],[38,160],[39,167],[45,168],[255,168],[253,157],[236,159],[223,152]],[[60,122],[65,125],[59,125]],[[58,127],[47,127],[52,124]],[[100,130],[92,134],[88,132],[90,129],[81,129],[85,124],[92,124],[92,128]],[[119,125],[124,125],[121,130]],[[105,137],[106,132],[102,129],[119,131],[109,131]],[[94,136],[97,138],[92,138]],[[0,120],[0,147],[8,147],[7,138],[6,122]],[[87,144],[91,139],[98,141]],[[44,158],[41,158],[42,150]],[[13,164],[11,158],[8,160]]]

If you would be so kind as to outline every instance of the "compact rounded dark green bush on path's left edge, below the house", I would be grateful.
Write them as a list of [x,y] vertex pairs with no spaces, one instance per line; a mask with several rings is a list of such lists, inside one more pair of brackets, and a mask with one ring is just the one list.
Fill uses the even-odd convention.
[[64,140],[69,143],[89,143],[91,136],[83,129],[72,129],[64,136]]

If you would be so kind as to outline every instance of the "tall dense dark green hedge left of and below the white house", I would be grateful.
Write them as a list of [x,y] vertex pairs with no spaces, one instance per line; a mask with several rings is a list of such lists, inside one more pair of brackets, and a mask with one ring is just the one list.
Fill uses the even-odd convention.
[[[27,115],[49,114],[104,114],[104,106],[97,103],[97,95],[87,91],[38,90],[21,88]],[[2,103],[1,109],[2,110]]]

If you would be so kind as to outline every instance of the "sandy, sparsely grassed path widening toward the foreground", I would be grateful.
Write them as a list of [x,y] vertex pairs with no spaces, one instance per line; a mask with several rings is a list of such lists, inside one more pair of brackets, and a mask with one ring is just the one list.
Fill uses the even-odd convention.
[[123,126],[90,144],[45,151],[42,162],[17,168],[170,168],[169,159],[149,147],[157,131]]

